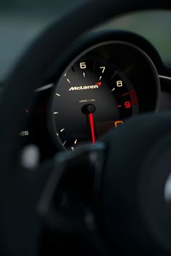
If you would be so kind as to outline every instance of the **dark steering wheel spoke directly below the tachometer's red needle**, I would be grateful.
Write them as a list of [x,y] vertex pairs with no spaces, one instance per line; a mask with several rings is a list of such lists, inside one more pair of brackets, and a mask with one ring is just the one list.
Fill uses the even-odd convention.
[[104,144],[87,145],[57,155],[38,212],[56,231],[87,234],[88,216],[98,203]]

